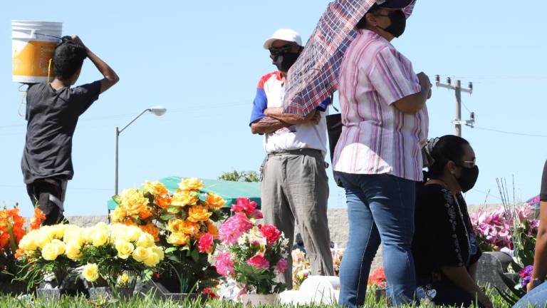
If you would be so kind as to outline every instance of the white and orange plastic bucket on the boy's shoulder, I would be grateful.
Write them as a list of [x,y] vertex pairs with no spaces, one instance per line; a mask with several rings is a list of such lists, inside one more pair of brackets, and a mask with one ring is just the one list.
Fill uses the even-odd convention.
[[63,34],[63,23],[11,21],[11,74],[20,83],[39,83],[55,77],[53,51]]

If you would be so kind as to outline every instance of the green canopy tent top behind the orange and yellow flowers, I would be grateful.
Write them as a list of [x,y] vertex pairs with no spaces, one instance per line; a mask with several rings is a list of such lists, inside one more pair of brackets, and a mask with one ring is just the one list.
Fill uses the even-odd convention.
[[[167,177],[160,180],[163,185],[170,191],[174,193],[175,190],[179,188],[181,178],[180,177]],[[246,183],[246,182],[232,182],[225,180],[205,180],[203,181],[204,188],[202,188],[202,193],[216,193],[226,200],[226,205],[224,207],[230,207],[236,202],[236,199],[239,197],[247,197],[251,201],[255,201],[257,205],[261,205],[260,202],[260,184],[259,183]],[[118,204],[110,198],[107,202],[108,212],[114,210],[118,207]]]

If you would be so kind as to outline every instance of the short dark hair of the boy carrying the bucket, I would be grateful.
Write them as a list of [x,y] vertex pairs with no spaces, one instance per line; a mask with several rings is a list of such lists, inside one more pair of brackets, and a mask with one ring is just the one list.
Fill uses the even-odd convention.
[[53,53],[53,71],[59,80],[66,81],[82,68],[88,53],[85,47],[75,41],[63,41]]

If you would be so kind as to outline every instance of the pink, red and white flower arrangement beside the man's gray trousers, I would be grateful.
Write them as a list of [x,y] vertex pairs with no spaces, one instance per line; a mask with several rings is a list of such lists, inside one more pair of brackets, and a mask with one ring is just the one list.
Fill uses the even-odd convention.
[[233,278],[240,294],[274,294],[286,284],[274,282],[277,274],[287,270],[288,240],[273,225],[257,225],[262,213],[256,202],[239,198],[219,231],[225,251],[217,256],[217,272]]

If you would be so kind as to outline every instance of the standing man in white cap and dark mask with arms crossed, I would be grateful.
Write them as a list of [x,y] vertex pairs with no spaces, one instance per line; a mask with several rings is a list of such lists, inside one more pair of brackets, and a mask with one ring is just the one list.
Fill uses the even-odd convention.
[[[278,71],[262,76],[251,113],[251,132],[264,134],[266,159],[261,166],[264,222],[276,225],[293,247],[295,220],[312,273],[334,274],[327,221],[328,178],[326,104],[306,118],[283,113],[285,78],[303,50],[296,31],[279,29],[264,42]],[[292,287],[292,259],[280,277]]]

